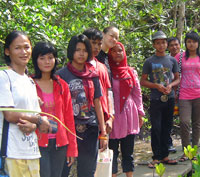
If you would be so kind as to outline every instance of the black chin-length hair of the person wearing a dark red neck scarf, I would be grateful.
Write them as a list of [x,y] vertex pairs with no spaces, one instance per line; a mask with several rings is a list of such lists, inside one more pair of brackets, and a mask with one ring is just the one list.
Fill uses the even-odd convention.
[[70,39],[68,47],[67,47],[67,57],[69,58],[70,61],[72,61],[74,59],[74,53],[76,51],[76,46],[79,42],[85,44],[85,47],[86,47],[86,50],[88,53],[87,61],[89,61],[92,58],[92,47],[90,44],[90,40],[84,34],[80,34],[78,36],[73,36]]

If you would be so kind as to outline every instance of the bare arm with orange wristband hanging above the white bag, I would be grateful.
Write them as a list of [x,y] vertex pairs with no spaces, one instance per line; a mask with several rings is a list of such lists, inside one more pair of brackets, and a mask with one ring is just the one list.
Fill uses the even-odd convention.
[[[101,131],[100,136],[105,137],[105,136],[107,136],[107,134],[106,134],[105,124],[104,124],[104,116],[103,116],[102,106],[101,106],[101,102],[100,102],[99,98],[94,99],[94,108],[95,108],[97,118],[99,121],[99,128]],[[108,139],[100,139],[101,151],[104,151],[107,148],[107,144],[108,144]]]

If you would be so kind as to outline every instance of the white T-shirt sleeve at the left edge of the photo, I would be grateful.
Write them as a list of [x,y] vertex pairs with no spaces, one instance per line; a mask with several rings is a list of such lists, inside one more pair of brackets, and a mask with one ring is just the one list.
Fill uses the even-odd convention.
[[14,106],[9,76],[0,71],[0,107]]

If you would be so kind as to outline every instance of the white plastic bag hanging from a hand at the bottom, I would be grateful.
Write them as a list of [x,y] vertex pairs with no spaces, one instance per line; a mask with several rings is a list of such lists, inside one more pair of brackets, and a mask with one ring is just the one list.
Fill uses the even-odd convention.
[[95,177],[112,177],[112,160],[113,150],[106,149],[103,152],[98,152],[97,168],[94,174]]

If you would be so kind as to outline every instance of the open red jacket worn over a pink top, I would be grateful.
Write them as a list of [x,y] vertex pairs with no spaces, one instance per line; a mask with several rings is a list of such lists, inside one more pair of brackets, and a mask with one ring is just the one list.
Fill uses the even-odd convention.
[[[53,81],[53,96],[55,102],[55,116],[59,118],[74,134],[74,114],[71,102],[71,94],[68,84],[57,76],[58,81]],[[42,90],[36,83],[37,93],[40,99],[43,101]],[[41,110],[44,110],[43,105]],[[40,133],[36,131],[38,135],[38,144],[41,147],[48,146],[48,134]],[[61,147],[67,145],[67,156],[77,157],[78,148],[76,137],[69,133],[60,123],[58,123],[58,131],[56,133],[56,146]]]

